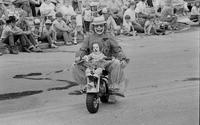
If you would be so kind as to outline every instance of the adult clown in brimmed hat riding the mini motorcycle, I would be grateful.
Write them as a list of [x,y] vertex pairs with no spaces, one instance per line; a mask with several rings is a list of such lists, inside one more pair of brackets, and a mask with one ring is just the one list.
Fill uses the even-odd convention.
[[[128,63],[128,59],[117,41],[106,32],[106,21],[102,16],[94,18],[91,28],[93,33],[85,38],[82,46],[75,55],[75,61],[79,61],[85,55],[89,55],[92,52],[92,45],[98,43],[101,46],[102,53],[106,57],[114,58],[112,63],[105,67],[109,72],[110,89],[124,94],[126,80],[123,70]],[[86,85],[85,70],[86,68],[84,66],[78,64],[74,65],[72,70],[75,81],[81,85],[81,90]],[[116,102],[115,96],[113,95],[109,99],[110,101]]]

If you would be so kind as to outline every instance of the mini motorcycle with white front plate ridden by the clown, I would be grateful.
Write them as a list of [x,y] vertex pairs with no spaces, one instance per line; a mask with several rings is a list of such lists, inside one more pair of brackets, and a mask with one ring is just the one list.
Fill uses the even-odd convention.
[[[107,58],[106,65],[112,62],[112,59]],[[90,113],[96,113],[99,109],[100,101],[102,103],[108,103],[110,95],[117,95],[117,93],[113,93],[112,90],[109,89],[108,83],[108,71],[103,70],[102,73],[96,74],[95,70],[96,66],[91,66],[84,60],[81,60],[78,64],[83,63],[83,65],[87,68],[90,68],[90,72],[86,74],[87,85],[86,85],[86,107]],[[118,96],[121,96],[118,94]]]

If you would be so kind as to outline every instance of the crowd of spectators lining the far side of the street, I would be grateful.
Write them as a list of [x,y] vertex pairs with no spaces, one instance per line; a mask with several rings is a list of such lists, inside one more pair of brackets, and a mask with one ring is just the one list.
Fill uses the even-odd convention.
[[[0,42],[11,54],[18,54],[19,46],[24,52],[42,52],[41,42],[50,48],[57,48],[59,40],[74,45],[91,32],[90,24],[97,16],[104,17],[106,30],[113,36],[164,35],[166,30],[176,29],[179,9],[173,1],[0,0]],[[191,12],[189,18],[198,22],[200,1],[190,6],[183,2],[183,13]]]

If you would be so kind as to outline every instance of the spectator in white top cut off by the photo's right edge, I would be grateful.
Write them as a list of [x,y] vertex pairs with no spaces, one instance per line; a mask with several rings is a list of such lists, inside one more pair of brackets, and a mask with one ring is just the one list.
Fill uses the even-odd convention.
[[200,1],[195,1],[195,4],[191,10],[190,20],[193,22],[199,21],[200,23]]

